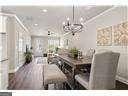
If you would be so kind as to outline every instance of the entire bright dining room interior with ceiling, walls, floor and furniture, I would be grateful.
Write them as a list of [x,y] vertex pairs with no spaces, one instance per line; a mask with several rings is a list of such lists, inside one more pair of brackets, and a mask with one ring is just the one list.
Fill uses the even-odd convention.
[[127,6],[2,6],[0,88],[127,90],[127,16]]

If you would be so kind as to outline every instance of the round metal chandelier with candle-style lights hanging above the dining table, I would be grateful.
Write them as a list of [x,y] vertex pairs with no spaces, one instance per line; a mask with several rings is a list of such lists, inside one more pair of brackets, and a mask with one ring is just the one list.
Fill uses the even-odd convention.
[[[80,23],[75,23],[75,9],[74,9],[74,5],[72,8],[72,22],[70,22],[69,18],[67,18],[67,22],[63,22],[63,30],[67,33],[67,32],[71,32],[72,35],[75,35],[75,33],[77,32],[81,32],[83,30],[83,24],[82,22]],[[80,21],[83,21],[83,18],[80,19]]]

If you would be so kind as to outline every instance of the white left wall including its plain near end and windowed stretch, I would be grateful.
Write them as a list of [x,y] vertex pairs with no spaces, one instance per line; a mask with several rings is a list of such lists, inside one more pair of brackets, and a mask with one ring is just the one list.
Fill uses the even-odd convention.
[[[7,33],[8,33],[8,58],[9,58],[9,72],[15,72],[20,66],[24,64],[24,52],[26,44],[31,46],[31,36],[28,31],[17,21],[15,16],[8,16],[7,19]],[[22,51],[19,51],[19,39],[23,39]]]

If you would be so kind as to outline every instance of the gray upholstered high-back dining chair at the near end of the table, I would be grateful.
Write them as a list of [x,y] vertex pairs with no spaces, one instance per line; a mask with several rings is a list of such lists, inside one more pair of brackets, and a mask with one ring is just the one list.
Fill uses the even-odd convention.
[[75,76],[76,82],[86,89],[113,89],[119,60],[119,53],[103,52],[94,55],[91,72]]

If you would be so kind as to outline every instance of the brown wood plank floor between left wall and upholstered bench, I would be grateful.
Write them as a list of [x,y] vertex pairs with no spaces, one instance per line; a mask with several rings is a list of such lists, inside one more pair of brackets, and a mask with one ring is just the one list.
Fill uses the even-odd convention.
[[10,90],[41,90],[42,86],[42,65],[32,62],[22,66],[9,80]]

